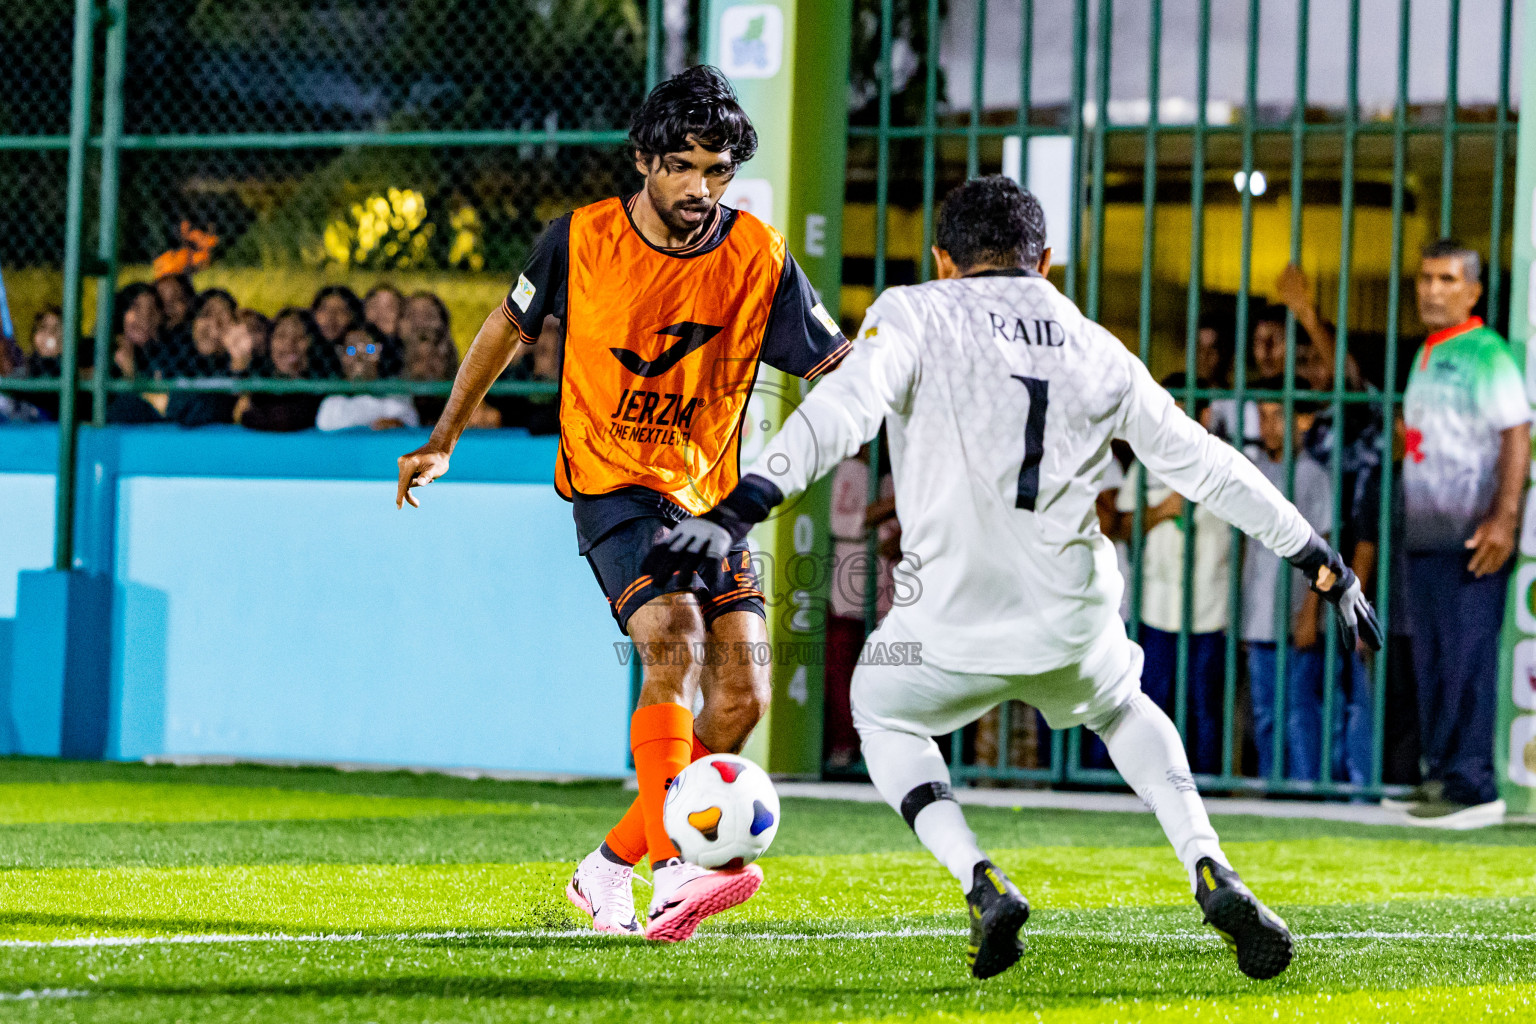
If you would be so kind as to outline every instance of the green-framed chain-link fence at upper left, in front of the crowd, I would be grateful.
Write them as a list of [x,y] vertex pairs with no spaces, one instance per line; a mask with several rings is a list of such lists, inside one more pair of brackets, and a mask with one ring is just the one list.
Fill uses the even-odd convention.
[[[459,18],[455,21],[453,18]],[[46,187],[63,193],[61,223],[43,220],[38,212],[23,230],[12,232],[0,249],[6,272],[37,267],[58,269],[58,306],[63,316],[63,345],[58,375],[54,378],[6,379],[3,388],[17,396],[57,395],[58,500],[57,522],[74,522],[74,465],[77,408],[86,395],[97,425],[104,422],[112,395],[132,391],[238,390],[266,393],[378,393],[447,395],[450,381],[382,379],[366,384],[252,378],[238,381],[114,379],[111,373],[80,373],[86,359],[80,345],[91,344],[89,365],[112,364],[114,292],[120,267],[129,261],[147,263],[151,243],[124,230],[137,213],[124,201],[124,186],[132,181],[135,197],[170,195],[172,207],[161,220],[192,220],[197,213],[174,209],[195,170],[155,164],[178,157],[226,158],[226,190],[244,180],[270,186],[273,181],[298,183],[303,190],[313,180],[313,167],[298,161],[306,155],[370,154],[412,150],[438,160],[436,184],[444,193],[472,190],[475,175],[484,177],[485,160],[470,154],[511,158],[522,154],[541,184],[527,198],[547,198],[574,204],[576,198],[596,198],[614,190],[622,170],[621,144],[627,137],[630,111],[660,75],[660,0],[611,0],[590,5],[554,0],[535,3],[510,0],[470,11],[430,0],[401,0],[395,5],[301,5],[296,0],[273,5],[230,3],[131,3],[131,0],[17,0],[0,14],[8,43],[15,49],[17,66],[29,69],[69,69],[68,124],[57,91],[43,88],[12,89],[0,100],[0,152],[6,158],[57,160],[66,157],[63,173],[38,173]],[[538,35],[538,32],[542,35]],[[135,34],[137,32],[137,34]],[[167,41],[169,40],[169,41]],[[68,46],[68,52],[65,48]],[[524,48],[533,46],[533,51]],[[52,48],[57,52],[46,52]],[[564,48],[564,49],[562,49]],[[507,49],[516,51],[507,63]],[[601,52],[599,52],[601,51]],[[436,64],[429,57],[435,55]],[[201,55],[200,61],[194,57]],[[567,60],[567,57],[570,60]],[[427,66],[421,61],[427,60]],[[200,81],[187,66],[198,64],[210,80]],[[510,71],[508,71],[510,69]],[[29,72],[31,74],[31,72]],[[178,77],[181,75],[181,77]],[[232,88],[230,78],[270,81]],[[355,89],[393,97],[372,106],[384,109],[359,114],[341,106],[341,114],[323,109],[278,109],[270,95],[281,92],[281,80],[296,75],[330,75],[307,86],[309,98],[327,91]],[[427,81],[422,83],[422,78]],[[31,80],[29,80],[31,81]],[[278,84],[273,84],[278,83]],[[416,98],[422,84],[438,88],[447,101]],[[527,120],[521,106],[535,98],[542,103],[542,127],[505,127],[507,121]],[[303,97],[301,97],[303,98]],[[292,106],[293,98],[283,100]],[[574,121],[579,127],[558,127],[554,121]],[[332,121],[315,124],[316,120]],[[376,123],[369,123],[375,120]],[[349,124],[350,123],[350,124]],[[364,126],[356,126],[366,123]],[[422,124],[442,126],[424,130]],[[61,130],[68,127],[68,130]],[[263,130],[253,130],[261,127]],[[604,154],[590,166],[574,170],[561,164],[561,154],[573,149]],[[533,157],[528,154],[533,152]],[[539,157],[538,154],[544,155]],[[289,155],[289,157],[284,157]],[[247,160],[241,164],[238,160]],[[124,160],[137,161],[124,166]],[[290,160],[292,163],[284,163]],[[455,164],[455,161],[458,161]],[[18,166],[18,164],[12,164]],[[45,169],[46,170],[46,169]],[[34,203],[28,178],[0,175],[0,200],[11,204]],[[306,173],[309,177],[306,177]],[[430,177],[430,175],[429,175]],[[49,193],[46,198],[55,198]],[[495,200],[496,197],[493,197]],[[51,203],[37,203],[52,209]],[[243,232],[260,224],[249,210],[214,210],[214,227],[238,253]],[[223,218],[223,220],[221,220]],[[531,221],[525,216],[525,221]],[[227,223],[224,223],[227,221]],[[521,223],[511,233],[522,238],[524,250],[538,224]],[[94,238],[89,238],[94,235]],[[55,249],[54,239],[61,239]],[[515,275],[521,261],[511,253],[487,270]],[[233,266],[283,273],[269,255],[249,253],[232,258]],[[389,279],[389,267],[378,270]],[[81,309],[83,282],[95,279],[94,338],[81,341],[86,322]],[[18,298],[12,289],[12,301]],[[276,310],[266,310],[276,312]],[[18,335],[25,324],[17,324]],[[75,382],[74,385],[65,382]],[[507,381],[493,387],[495,395],[553,395],[547,381]],[[72,533],[57,531],[55,567],[74,563]]]

